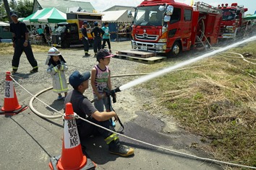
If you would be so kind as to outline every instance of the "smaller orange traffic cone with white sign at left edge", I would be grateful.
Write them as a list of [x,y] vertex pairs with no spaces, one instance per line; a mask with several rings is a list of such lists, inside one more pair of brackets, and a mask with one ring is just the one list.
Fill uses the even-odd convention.
[[15,115],[27,109],[27,105],[20,105],[16,96],[11,72],[7,71],[4,91],[4,107],[1,107],[0,115]]

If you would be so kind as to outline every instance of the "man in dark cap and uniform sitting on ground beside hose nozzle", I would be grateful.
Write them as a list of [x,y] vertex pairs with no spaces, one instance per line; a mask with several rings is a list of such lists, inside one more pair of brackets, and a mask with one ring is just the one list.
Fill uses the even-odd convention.
[[[90,71],[85,73],[79,73],[74,71],[69,76],[69,84],[74,88],[72,91],[69,91],[65,99],[65,104],[68,102],[72,103],[74,112],[77,113],[80,117],[94,122],[97,125],[101,125],[108,130],[115,132],[114,127],[112,126],[109,119],[114,117],[115,120],[118,119],[116,112],[98,112],[98,110],[93,106],[90,100],[83,95],[86,89],[88,89],[90,79]],[[83,146],[87,138],[90,135],[100,133],[104,138],[106,144],[108,144],[108,151],[113,154],[120,156],[131,156],[134,154],[135,149],[128,146],[121,145],[119,137],[116,133],[98,128],[95,125],[85,122],[81,119],[76,119],[78,134]]]

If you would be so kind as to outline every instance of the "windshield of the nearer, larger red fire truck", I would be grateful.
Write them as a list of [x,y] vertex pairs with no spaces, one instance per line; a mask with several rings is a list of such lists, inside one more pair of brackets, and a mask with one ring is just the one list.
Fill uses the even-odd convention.
[[159,11],[159,6],[140,6],[135,12],[135,25],[162,25],[164,11]]

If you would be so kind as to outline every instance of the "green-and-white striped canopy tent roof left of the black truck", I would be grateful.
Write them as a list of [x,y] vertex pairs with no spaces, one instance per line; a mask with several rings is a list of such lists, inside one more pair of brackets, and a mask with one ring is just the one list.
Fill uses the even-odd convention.
[[22,22],[45,22],[45,23],[59,23],[66,22],[67,15],[56,8],[40,9],[28,17],[22,19]]

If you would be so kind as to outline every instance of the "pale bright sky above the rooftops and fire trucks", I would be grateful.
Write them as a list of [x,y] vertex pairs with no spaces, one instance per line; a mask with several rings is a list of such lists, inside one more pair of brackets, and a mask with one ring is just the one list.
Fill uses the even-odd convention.
[[[76,0],[73,0],[76,1]],[[111,6],[121,5],[121,6],[137,6],[143,0],[77,0],[77,1],[90,1],[93,4],[94,8],[98,12],[103,12],[105,9],[110,8]],[[191,4],[192,0],[174,0],[176,2],[182,2],[184,4]],[[194,3],[198,0],[194,0]],[[245,14],[254,14],[256,11],[255,0],[201,0],[206,4],[212,6],[218,6],[218,4],[229,4],[236,2],[238,5],[244,5],[245,8],[248,8],[248,11]]]

